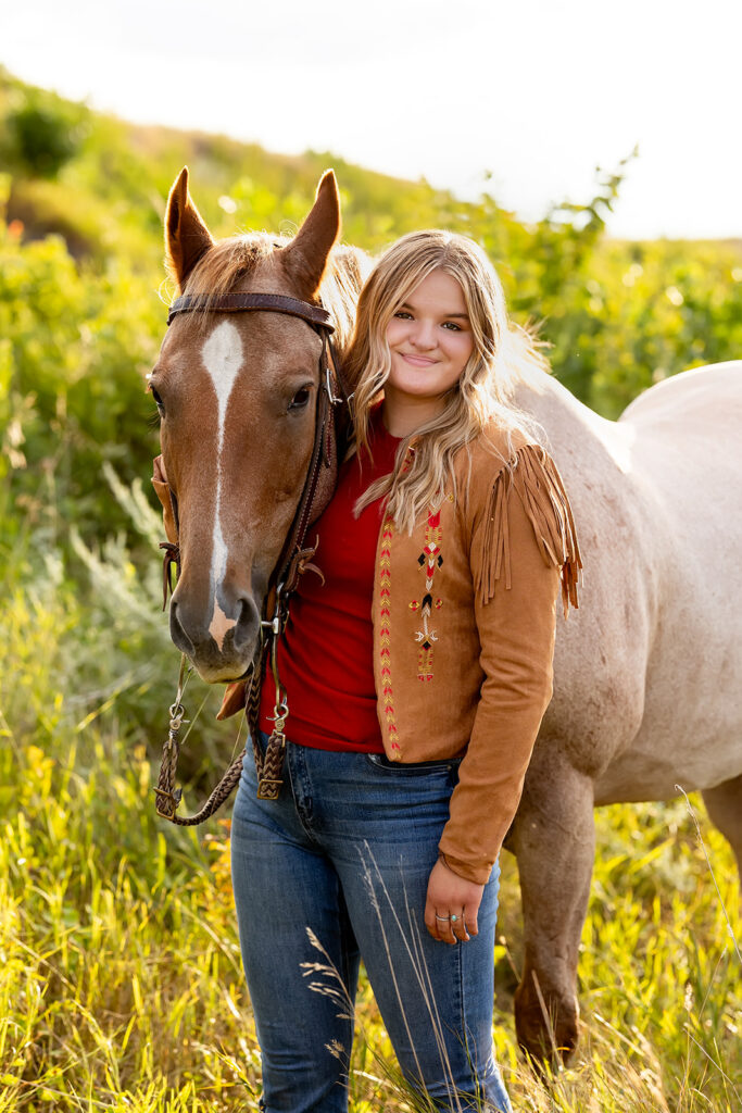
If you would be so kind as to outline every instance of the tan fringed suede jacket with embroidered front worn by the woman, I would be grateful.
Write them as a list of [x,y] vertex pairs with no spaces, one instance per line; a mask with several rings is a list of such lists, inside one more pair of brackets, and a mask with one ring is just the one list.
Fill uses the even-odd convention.
[[[439,849],[455,873],[484,884],[552,697],[560,584],[566,618],[582,564],[561,476],[540,445],[520,437],[508,453],[493,425],[458,452],[454,471],[456,495],[452,483],[412,535],[388,518],[382,525],[374,674],[388,758],[463,757]],[[220,718],[244,706],[236,688]]]

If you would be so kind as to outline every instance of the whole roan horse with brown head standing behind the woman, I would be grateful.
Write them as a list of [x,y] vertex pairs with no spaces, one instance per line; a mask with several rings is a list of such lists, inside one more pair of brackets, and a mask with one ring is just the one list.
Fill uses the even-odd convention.
[[[186,170],[168,199],[169,269],[200,308],[174,318],[151,373],[166,469],[156,481],[179,542],[171,637],[210,683],[249,678],[256,667],[323,391],[323,341],[306,318],[225,313],[214,299],[321,302],[342,365],[367,260],[337,246],[339,227],[332,171],[289,240],[251,234],[215,244]],[[617,422],[546,373],[523,382],[515,402],[545,431],[585,569],[580,610],[558,624],[554,697],[505,844],[517,857],[524,920],[517,1040],[536,1060],[557,1047],[566,1061],[578,1040],[593,808],[666,800],[679,784],[700,789],[742,869],[742,650],[728,604],[742,595],[730,482],[742,474],[742,364],[660,383]],[[316,512],[332,494],[327,463]]]

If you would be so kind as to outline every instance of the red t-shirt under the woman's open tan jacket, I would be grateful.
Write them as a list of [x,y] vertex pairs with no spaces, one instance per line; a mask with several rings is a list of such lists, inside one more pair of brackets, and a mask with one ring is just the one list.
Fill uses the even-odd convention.
[[[286,737],[320,750],[384,752],[372,620],[382,500],[365,506],[358,518],[353,513],[359,495],[394,467],[399,439],[387,433],[380,412],[370,444],[373,463],[364,452],[342,465],[329,505],[307,532],[308,544],[319,536],[313,563],[321,569],[325,583],[313,572],[300,578],[278,646],[278,674],[289,706]],[[275,695],[268,669],[260,700],[260,729],[268,735]]]

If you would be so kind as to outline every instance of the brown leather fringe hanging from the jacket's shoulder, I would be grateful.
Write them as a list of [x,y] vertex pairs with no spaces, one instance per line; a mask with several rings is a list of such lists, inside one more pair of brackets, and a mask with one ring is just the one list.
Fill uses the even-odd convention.
[[572,508],[562,476],[548,453],[538,444],[526,444],[507,461],[492,485],[484,526],[482,572],[475,584],[482,603],[495,593],[502,578],[511,587],[511,539],[507,508],[513,489],[528,515],[544,563],[562,568],[564,617],[577,607],[582,560]]

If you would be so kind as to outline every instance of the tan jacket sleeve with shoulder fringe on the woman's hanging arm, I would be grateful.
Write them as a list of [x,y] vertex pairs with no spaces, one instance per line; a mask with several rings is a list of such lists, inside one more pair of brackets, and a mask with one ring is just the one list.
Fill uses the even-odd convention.
[[439,843],[447,865],[477,884],[515,815],[552,697],[560,582],[566,615],[582,567],[570,503],[543,449],[525,445],[486,486],[472,500],[469,558],[484,681]]

